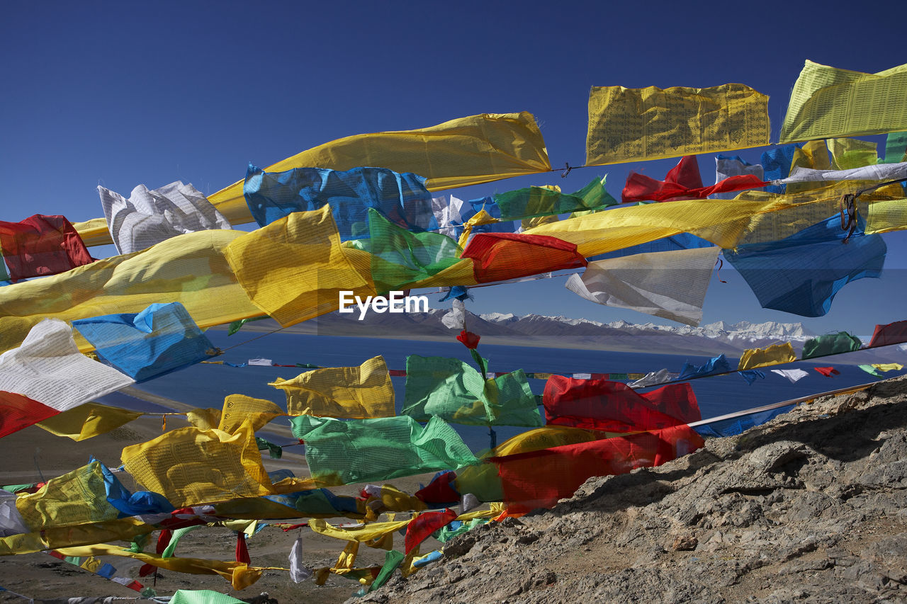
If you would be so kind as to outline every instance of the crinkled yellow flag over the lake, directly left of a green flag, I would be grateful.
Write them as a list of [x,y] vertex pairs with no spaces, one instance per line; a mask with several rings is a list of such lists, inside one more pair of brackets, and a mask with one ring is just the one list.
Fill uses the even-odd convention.
[[365,419],[394,415],[394,385],[383,356],[358,367],[326,367],[269,383],[287,395],[290,415]]

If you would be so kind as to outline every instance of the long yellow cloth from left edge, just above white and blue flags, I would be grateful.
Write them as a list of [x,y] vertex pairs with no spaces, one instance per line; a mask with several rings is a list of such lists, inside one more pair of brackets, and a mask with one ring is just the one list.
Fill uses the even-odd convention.
[[[180,302],[200,327],[257,317],[261,311],[239,287],[222,251],[241,236],[234,230],[187,233],[141,252],[7,286],[0,297],[0,351],[19,346],[44,318],[138,313],[157,302]],[[80,350],[91,349],[74,336]]]

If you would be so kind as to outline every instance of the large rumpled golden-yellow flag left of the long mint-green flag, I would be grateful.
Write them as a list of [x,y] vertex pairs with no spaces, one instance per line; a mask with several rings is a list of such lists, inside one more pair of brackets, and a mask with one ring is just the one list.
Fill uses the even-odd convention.
[[185,507],[273,492],[249,422],[234,434],[179,428],[122,450],[137,482]]

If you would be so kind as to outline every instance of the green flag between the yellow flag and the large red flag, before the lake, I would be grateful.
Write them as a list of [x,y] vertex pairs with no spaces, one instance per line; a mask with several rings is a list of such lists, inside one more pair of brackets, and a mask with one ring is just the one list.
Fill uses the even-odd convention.
[[486,379],[472,366],[443,356],[406,357],[403,410],[417,422],[433,415],[453,424],[541,426],[522,369]]

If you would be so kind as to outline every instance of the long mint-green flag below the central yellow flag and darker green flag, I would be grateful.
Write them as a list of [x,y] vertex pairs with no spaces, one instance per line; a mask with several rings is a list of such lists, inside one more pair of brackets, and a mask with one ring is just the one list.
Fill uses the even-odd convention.
[[384,481],[477,461],[439,417],[424,427],[406,415],[347,422],[299,415],[290,422],[306,443],[312,477],[327,484]]

